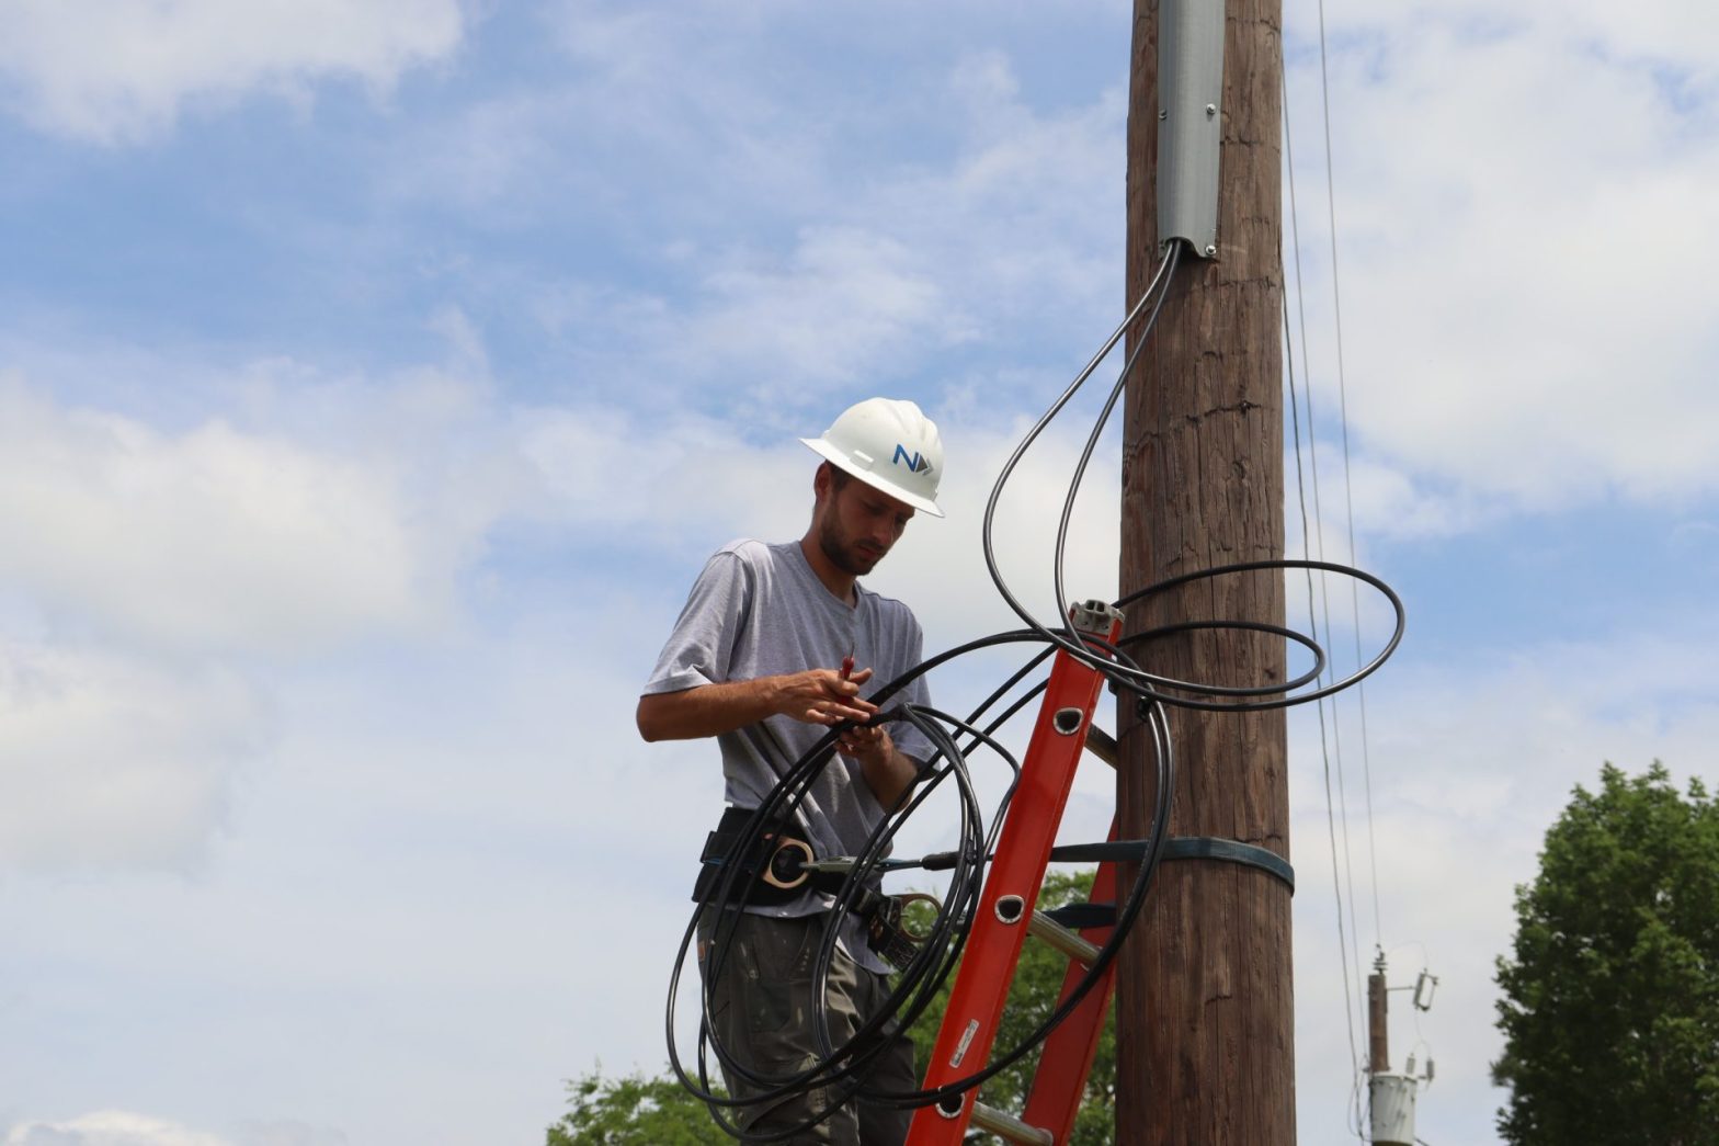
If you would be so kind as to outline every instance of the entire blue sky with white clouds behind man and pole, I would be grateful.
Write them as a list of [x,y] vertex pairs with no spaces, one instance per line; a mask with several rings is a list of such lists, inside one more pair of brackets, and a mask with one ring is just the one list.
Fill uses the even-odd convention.
[[[1291,719],[1298,1117],[1348,1134],[1343,964],[1377,941],[1441,976],[1392,1027],[1439,1063],[1420,1136],[1492,1143],[1490,967],[1545,826],[1606,759],[1719,774],[1719,29],[1676,0],[1324,15],[1343,392],[1301,0],[1294,354],[1325,556],[1341,401],[1358,559],[1411,621],[1367,690],[1372,829],[1356,697],[1331,716],[1353,891]],[[1011,623],[978,516],[1123,313],[1129,7],[0,22],[0,1143],[538,1141],[564,1079],[662,1063],[720,783],[633,700],[703,556],[803,528],[792,439],[920,401],[949,520],[875,583],[930,647]],[[1078,442],[999,537],[1042,611]],[[1114,592],[1114,446],[1076,595]],[[1083,776],[1067,838],[1107,817]]]

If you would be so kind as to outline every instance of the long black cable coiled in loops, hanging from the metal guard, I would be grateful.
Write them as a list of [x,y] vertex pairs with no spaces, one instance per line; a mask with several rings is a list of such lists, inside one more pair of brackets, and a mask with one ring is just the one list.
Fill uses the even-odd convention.
[[[1239,575],[1250,571],[1265,570],[1289,570],[1289,568],[1306,568],[1320,570],[1327,573],[1341,573],[1358,580],[1367,582],[1391,602],[1396,613],[1396,625],[1392,628],[1391,638],[1386,645],[1373,656],[1372,661],[1363,664],[1360,669],[1349,676],[1334,681],[1324,688],[1315,688],[1300,695],[1294,693],[1296,688],[1303,688],[1313,683],[1324,673],[1327,666],[1327,657],[1324,647],[1317,638],[1300,633],[1293,628],[1263,623],[1263,621],[1238,621],[1238,619],[1191,619],[1178,621],[1172,625],[1157,626],[1152,630],[1129,633],[1119,642],[1110,644],[1105,640],[1093,638],[1090,633],[1080,633],[1067,623],[1067,601],[1064,592],[1064,556],[1067,545],[1067,528],[1073,516],[1074,499],[1080,492],[1081,480],[1085,477],[1086,466],[1093,456],[1098,439],[1102,437],[1104,427],[1114,411],[1123,391],[1126,389],[1126,380],[1133,372],[1135,361],[1138,360],[1141,349],[1150,339],[1152,329],[1157,323],[1159,311],[1169,296],[1171,282],[1174,280],[1176,268],[1181,260],[1181,243],[1172,243],[1167,250],[1165,258],[1159,263],[1152,282],[1148,284],[1140,303],[1129,311],[1128,318],[1117,327],[1117,330],[1105,341],[1104,348],[1093,356],[1093,360],[1076,375],[1074,382],[1052,403],[1050,410],[1031,427],[1025,435],[1021,444],[1014,449],[1011,458],[1004,463],[1002,471],[995,485],[992,487],[990,499],[987,501],[982,544],[985,554],[985,564],[990,573],[992,583],[1004,597],[1007,606],[1019,616],[1028,628],[1011,630],[1002,633],[994,633],[990,637],[982,637],[954,649],[949,649],[935,657],[923,661],[921,664],[902,673],[894,681],[885,683],[878,688],[870,700],[882,705],[908,687],[911,681],[918,680],[925,673],[942,664],[947,664],[961,656],[976,652],[988,647],[999,647],[1006,644],[1038,644],[1038,649],[1026,664],[1018,669],[1011,678],[995,692],[990,693],[966,719],[956,719],[945,712],[932,709],[928,705],[897,704],[892,709],[884,709],[877,718],[880,721],[908,721],[918,728],[927,740],[933,745],[935,752],[930,761],[927,761],[925,779],[916,785],[913,798],[909,798],[901,807],[885,814],[878,826],[872,831],[868,840],[860,850],[860,855],[853,857],[853,866],[846,872],[841,890],[832,896],[830,905],[823,914],[823,929],[820,934],[818,955],[813,964],[813,1039],[817,1046],[815,1062],[801,1070],[786,1075],[768,1075],[758,1072],[746,1063],[736,1060],[724,1046],[717,1032],[708,1022],[710,1007],[710,983],[715,981],[717,970],[727,958],[727,948],[732,945],[734,927],[739,922],[741,905],[748,898],[751,886],[762,878],[762,866],[753,871],[751,876],[743,883],[741,871],[744,869],[744,857],[749,847],[756,843],[755,836],[763,828],[763,824],[775,819],[792,819],[799,805],[804,802],[811,790],[813,781],[818,773],[835,759],[835,740],[846,724],[835,726],[827,731],[799,761],[794,761],[786,771],[777,769],[779,781],[772,792],[760,802],[748,819],[746,828],[739,833],[736,843],[731,847],[729,853],[722,857],[720,878],[713,881],[712,890],[696,903],[693,919],[688,924],[686,934],[682,936],[681,948],[676,953],[674,974],[669,989],[669,1007],[667,1007],[667,1034],[669,1034],[669,1057],[676,1075],[681,1084],[693,1091],[698,1098],[705,1100],[710,1106],[712,1118],[732,1137],[765,1143],[765,1141],[782,1141],[791,1137],[810,1125],[825,1118],[837,1106],[847,1103],[856,1094],[866,1096],[875,1101],[892,1103],[897,1106],[921,1106],[933,1101],[945,1101],[954,1096],[966,1094],[973,1087],[983,1084],[987,1079],[995,1077],[999,1072],[1007,1070],[1011,1065],[1028,1055],[1037,1048],[1059,1022],[1062,1022],[1080,1001],[1097,986],[1100,977],[1107,972],[1109,965],[1114,962],[1116,953],[1121,950],[1129,929],[1136,922],[1140,910],[1145,905],[1145,898],[1150,891],[1152,881],[1157,874],[1159,864],[1164,859],[1164,848],[1169,841],[1169,809],[1174,792],[1174,745],[1169,735],[1169,718],[1165,712],[1167,705],[1205,709],[1205,711],[1234,711],[1234,712],[1257,712],[1279,707],[1289,707],[1294,704],[1305,704],[1308,700],[1317,700],[1339,692],[1365,676],[1372,675],[1398,647],[1404,628],[1404,609],[1401,599],[1386,585],[1382,580],[1356,570],[1353,566],[1344,566],[1337,563],[1325,561],[1250,561],[1238,564],[1226,564],[1210,570],[1200,570],[1195,573],[1184,573],[1181,576],[1167,578],[1147,588],[1135,590],[1116,602],[1116,607],[1126,607],[1138,601],[1143,601],[1153,594],[1167,592],[1171,588],[1186,585],[1195,580],[1215,578],[1226,575]],[[1150,310],[1148,310],[1150,306]],[[1102,360],[1114,349],[1116,342],[1123,337],[1131,323],[1147,313],[1145,325],[1135,348],[1129,351],[1128,360],[1112,387],[1102,413],[1098,415],[1092,434],[1086,439],[1086,446],[1081,451],[1080,461],[1076,463],[1074,475],[1069,484],[1069,492],[1062,506],[1062,514],[1057,528],[1055,540],[1055,559],[1054,559],[1054,582],[1055,582],[1055,599],[1059,614],[1064,618],[1064,625],[1052,630],[1033,618],[1025,606],[1014,597],[1004,582],[992,545],[992,528],[995,520],[997,502],[1000,499],[1002,489],[1009,482],[1012,471],[1019,465],[1025,453],[1045,430],[1045,427],[1064,410],[1071,401],[1074,392],[1086,382],[1093,370],[1102,363]],[[1186,633],[1195,630],[1241,630],[1241,632],[1258,632],[1272,637],[1281,637],[1284,640],[1300,644],[1313,654],[1315,666],[1312,671],[1296,676],[1294,680],[1286,680],[1281,683],[1269,685],[1219,685],[1207,681],[1183,681],[1176,678],[1160,676],[1148,673],[1141,668],[1129,649],[1148,640],[1171,637],[1176,633]],[[1098,671],[1112,687],[1112,690],[1121,693],[1129,693],[1136,699],[1135,711],[1141,728],[1147,730],[1150,736],[1152,755],[1157,769],[1157,805],[1152,812],[1150,835],[1147,838],[1147,852],[1140,860],[1138,871],[1135,872],[1135,883],[1129,888],[1128,898],[1124,900],[1121,910],[1116,915],[1116,924],[1112,927],[1110,938],[1100,948],[1098,957],[1081,976],[1076,988],[1067,1000],[1062,1001],[1047,1019],[1042,1022],[1028,1038],[1012,1048],[1000,1053],[994,1053],[990,1063],[980,1070],[956,1079],[949,1084],[932,1089],[913,1089],[913,1091],[885,1091],[872,1087],[863,1081],[863,1074],[872,1060],[882,1053],[887,1046],[887,1038],[878,1038],[885,1032],[899,1032],[901,1029],[911,1026],[920,1014],[930,1005],[937,991],[952,974],[956,962],[961,957],[966,938],[973,922],[973,907],[983,891],[983,872],[990,860],[990,852],[995,845],[997,833],[1002,828],[1007,807],[1012,800],[1016,785],[1019,783],[1019,762],[994,738],[995,733],[1006,721],[1016,716],[1033,697],[1043,690],[1043,683],[1038,683],[1028,690],[1023,697],[1011,702],[1000,716],[994,718],[985,728],[978,728],[976,723],[995,705],[1007,692],[1016,688],[1025,681],[1035,668],[1043,664],[1047,657],[1054,652],[1062,650],[1081,664]],[[1219,700],[1217,697],[1231,697],[1231,700]],[[951,731],[954,730],[954,731]],[[767,730],[768,731],[768,730]],[[966,736],[966,743],[957,743],[957,736]],[[774,740],[774,738],[772,738]],[[988,747],[995,750],[1011,767],[1012,778],[999,800],[999,807],[992,816],[990,828],[985,828],[985,817],[978,807],[978,798],[973,790],[971,774],[968,769],[966,755],[978,747]],[[780,752],[780,745],[777,743]],[[939,766],[939,761],[942,764]],[[863,891],[872,890],[882,876],[890,871],[885,855],[892,847],[896,835],[906,824],[906,821],[918,812],[932,793],[945,781],[954,779],[956,798],[959,804],[959,826],[957,838],[959,847],[954,852],[952,874],[949,883],[949,891],[942,902],[930,933],[920,945],[920,952],[913,957],[908,967],[901,969],[896,986],[885,998],[885,1005],[877,1010],[868,1020],[860,1024],[860,1027],[841,1046],[834,1046],[829,1031],[829,1001],[825,998],[827,977],[830,962],[835,957],[837,941],[841,931],[846,926],[847,917],[853,914]],[[906,864],[902,864],[906,866]],[[698,1082],[694,1084],[681,1062],[679,1048],[674,1038],[674,1019],[676,1005],[679,996],[679,981],[686,970],[686,953],[691,943],[696,940],[698,924],[705,912],[717,912],[717,924],[713,927],[713,936],[710,948],[705,955],[708,960],[705,970],[701,972],[701,991],[700,1000],[703,1003],[703,1015],[700,1020],[700,1043],[698,1043]],[[708,1070],[708,1053],[715,1053],[719,1063],[739,1079],[743,1084],[755,1087],[758,1093],[746,1098],[736,1096],[719,1096],[712,1091],[710,1070]],[[724,1110],[727,1108],[756,1108],[762,1115],[767,1115],[770,1106],[786,1103],[799,1096],[804,1089],[813,1086],[823,1086],[832,1089],[832,1101],[818,1112],[813,1112],[799,1124],[780,1129],[780,1131],[748,1131],[734,1125]],[[963,1100],[964,1101],[964,1100]]]

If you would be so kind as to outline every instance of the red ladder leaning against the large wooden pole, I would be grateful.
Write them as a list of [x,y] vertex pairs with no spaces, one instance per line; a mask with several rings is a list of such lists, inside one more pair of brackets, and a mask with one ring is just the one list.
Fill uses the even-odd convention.
[[[1069,609],[1069,621],[1083,637],[1112,645],[1123,630],[1123,614],[1102,601],[1074,606]],[[1092,647],[1104,650],[1102,645]],[[1057,650],[1038,723],[1021,761],[1021,779],[997,840],[997,855],[975,909],[949,1008],[932,1046],[925,1089],[968,1077],[988,1062],[1028,931],[1069,957],[1062,998],[1085,976],[1098,945],[1110,934],[1109,926],[1076,934],[1033,910],[1102,685],[1102,671],[1067,650]],[[1110,838],[1116,838],[1114,823]],[[1100,866],[1090,898],[1116,900],[1114,864]],[[1110,988],[1112,976],[1107,969],[1080,1007],[1047,1036],[1023,1118],[978,1103],[970,1089],[920,1106],[913,1115],[908,1146],[957,1146],[968,1124],[1012,1143],[1066,1143],[1086,1089]]]

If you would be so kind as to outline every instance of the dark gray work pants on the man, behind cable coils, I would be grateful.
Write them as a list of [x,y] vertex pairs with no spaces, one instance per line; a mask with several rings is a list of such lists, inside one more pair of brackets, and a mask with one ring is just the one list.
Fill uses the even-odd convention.
[[[713,933],[715,910],[707,909],[698,921],[700,974],[705,972]],[[727,958],[719,969],[719,981],[710,984],[708,1022],[722,1048],[751,1070],[786,1075],[806,1069],[818,1058],[811,1032],[811,964],[818,957],[822,938],[823,915],[774,919],[741,912]],[[839,1048],[877,1014],[889,996],[889,983],[837,950],[830,958],[825,995],[830,1046]],[[758,1093],[756,1086],[731,1077],[729,1070],[724,1070],[724,1081],[732,1096]],[[868,1067],[865,1082],[885,1091],[916,1089],[913,1041],[904,1034],[894,1036],[890,1046]],[[829,1106],[846,1086],[851,1086],[849,1079],[832,1087],[810,1087],[779,1103],[741,1106],[729,1113],[748,1131],[787,1129]],[[911,1122],[911,1110],[856,1098],[787,1141],[901,1146]]]

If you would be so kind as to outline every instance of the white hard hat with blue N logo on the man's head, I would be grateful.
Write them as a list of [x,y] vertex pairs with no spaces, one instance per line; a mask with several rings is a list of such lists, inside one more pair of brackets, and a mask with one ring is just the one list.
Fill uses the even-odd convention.
[[868,397],[849,406],[823,437],[799,439],[839,470],[899,497],[933,518],[937,480],[944,475],[944,442],[918,406],[897,397]]

